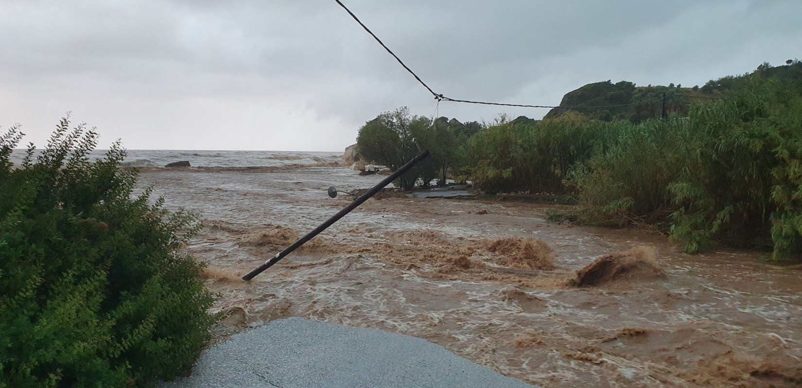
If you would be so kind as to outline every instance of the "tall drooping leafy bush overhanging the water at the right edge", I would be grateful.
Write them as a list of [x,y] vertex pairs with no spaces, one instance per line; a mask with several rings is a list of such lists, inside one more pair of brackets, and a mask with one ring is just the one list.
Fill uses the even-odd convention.
[[[802,97],[752,80],[691,111],[680,144],[686,166],[669,191],[679,206],[672,238],[695,252],[711,238],[764,244],[774,258],[802,247]],[[771,238],[771,240],[769,240]]]

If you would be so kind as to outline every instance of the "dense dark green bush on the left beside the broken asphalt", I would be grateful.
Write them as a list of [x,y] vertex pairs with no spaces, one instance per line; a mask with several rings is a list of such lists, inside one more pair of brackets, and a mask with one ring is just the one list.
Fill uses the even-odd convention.
[[47,148],[0,138],[0,387],[149,386],[184,373],[209,340],[202,265],[180,246],[196,217],[132,196],[119,142],[60,122]]

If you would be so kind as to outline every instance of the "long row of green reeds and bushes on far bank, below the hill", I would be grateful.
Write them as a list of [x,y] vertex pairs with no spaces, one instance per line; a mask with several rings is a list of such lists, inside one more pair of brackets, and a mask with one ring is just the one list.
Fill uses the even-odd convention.
[[651,223],[689,253],[719,241],[771,246],[773,258],[788,258],[802,252],[802,88],[795,66],[721,78],[736,88],[689,102],[687,117],[633,123],[565,121],[564,114],[500,123],[467,142],[465,170],[485,191],[577,195],[582,208],[557,210],[554,219]]

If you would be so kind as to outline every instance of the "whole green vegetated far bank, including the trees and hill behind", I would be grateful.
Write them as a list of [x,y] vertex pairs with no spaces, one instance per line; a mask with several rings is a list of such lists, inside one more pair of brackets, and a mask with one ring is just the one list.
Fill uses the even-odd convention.
[[[661,118],[663,93],[672,101],[667,118]],[[650,225],[691,253],[724,243],[770,248],[776,260],[798,258],[802,62],[764,63],[750,74],[693,88],[597,82],[565,94],[563,103],[648,98],[653,101],[602,110],[552,110],[543,120],[501,115],[459,142],[448,126],[428,118],[412,117],[407,122],[414,125],[404,127],[380,115],[360,130],[358,152],[379,161],[403,145],[409,152],[386,163],[397,166],[418,146],[429,149],[434,161],[448,160],[432,162],[441,178],[468,179],[487,193],[569,195],[578,205],[553,218]],[[382,139],[371,134],[379,128]],[[433,176],[416,174],[403,186]]]

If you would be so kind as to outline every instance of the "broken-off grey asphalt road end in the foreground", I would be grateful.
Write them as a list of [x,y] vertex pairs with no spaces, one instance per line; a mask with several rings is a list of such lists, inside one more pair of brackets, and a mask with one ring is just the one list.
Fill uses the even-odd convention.
[[[236,334],[166,387],[533,388],[421,338],[287,318]],[[537,388],[537,387],[535,387]]]

